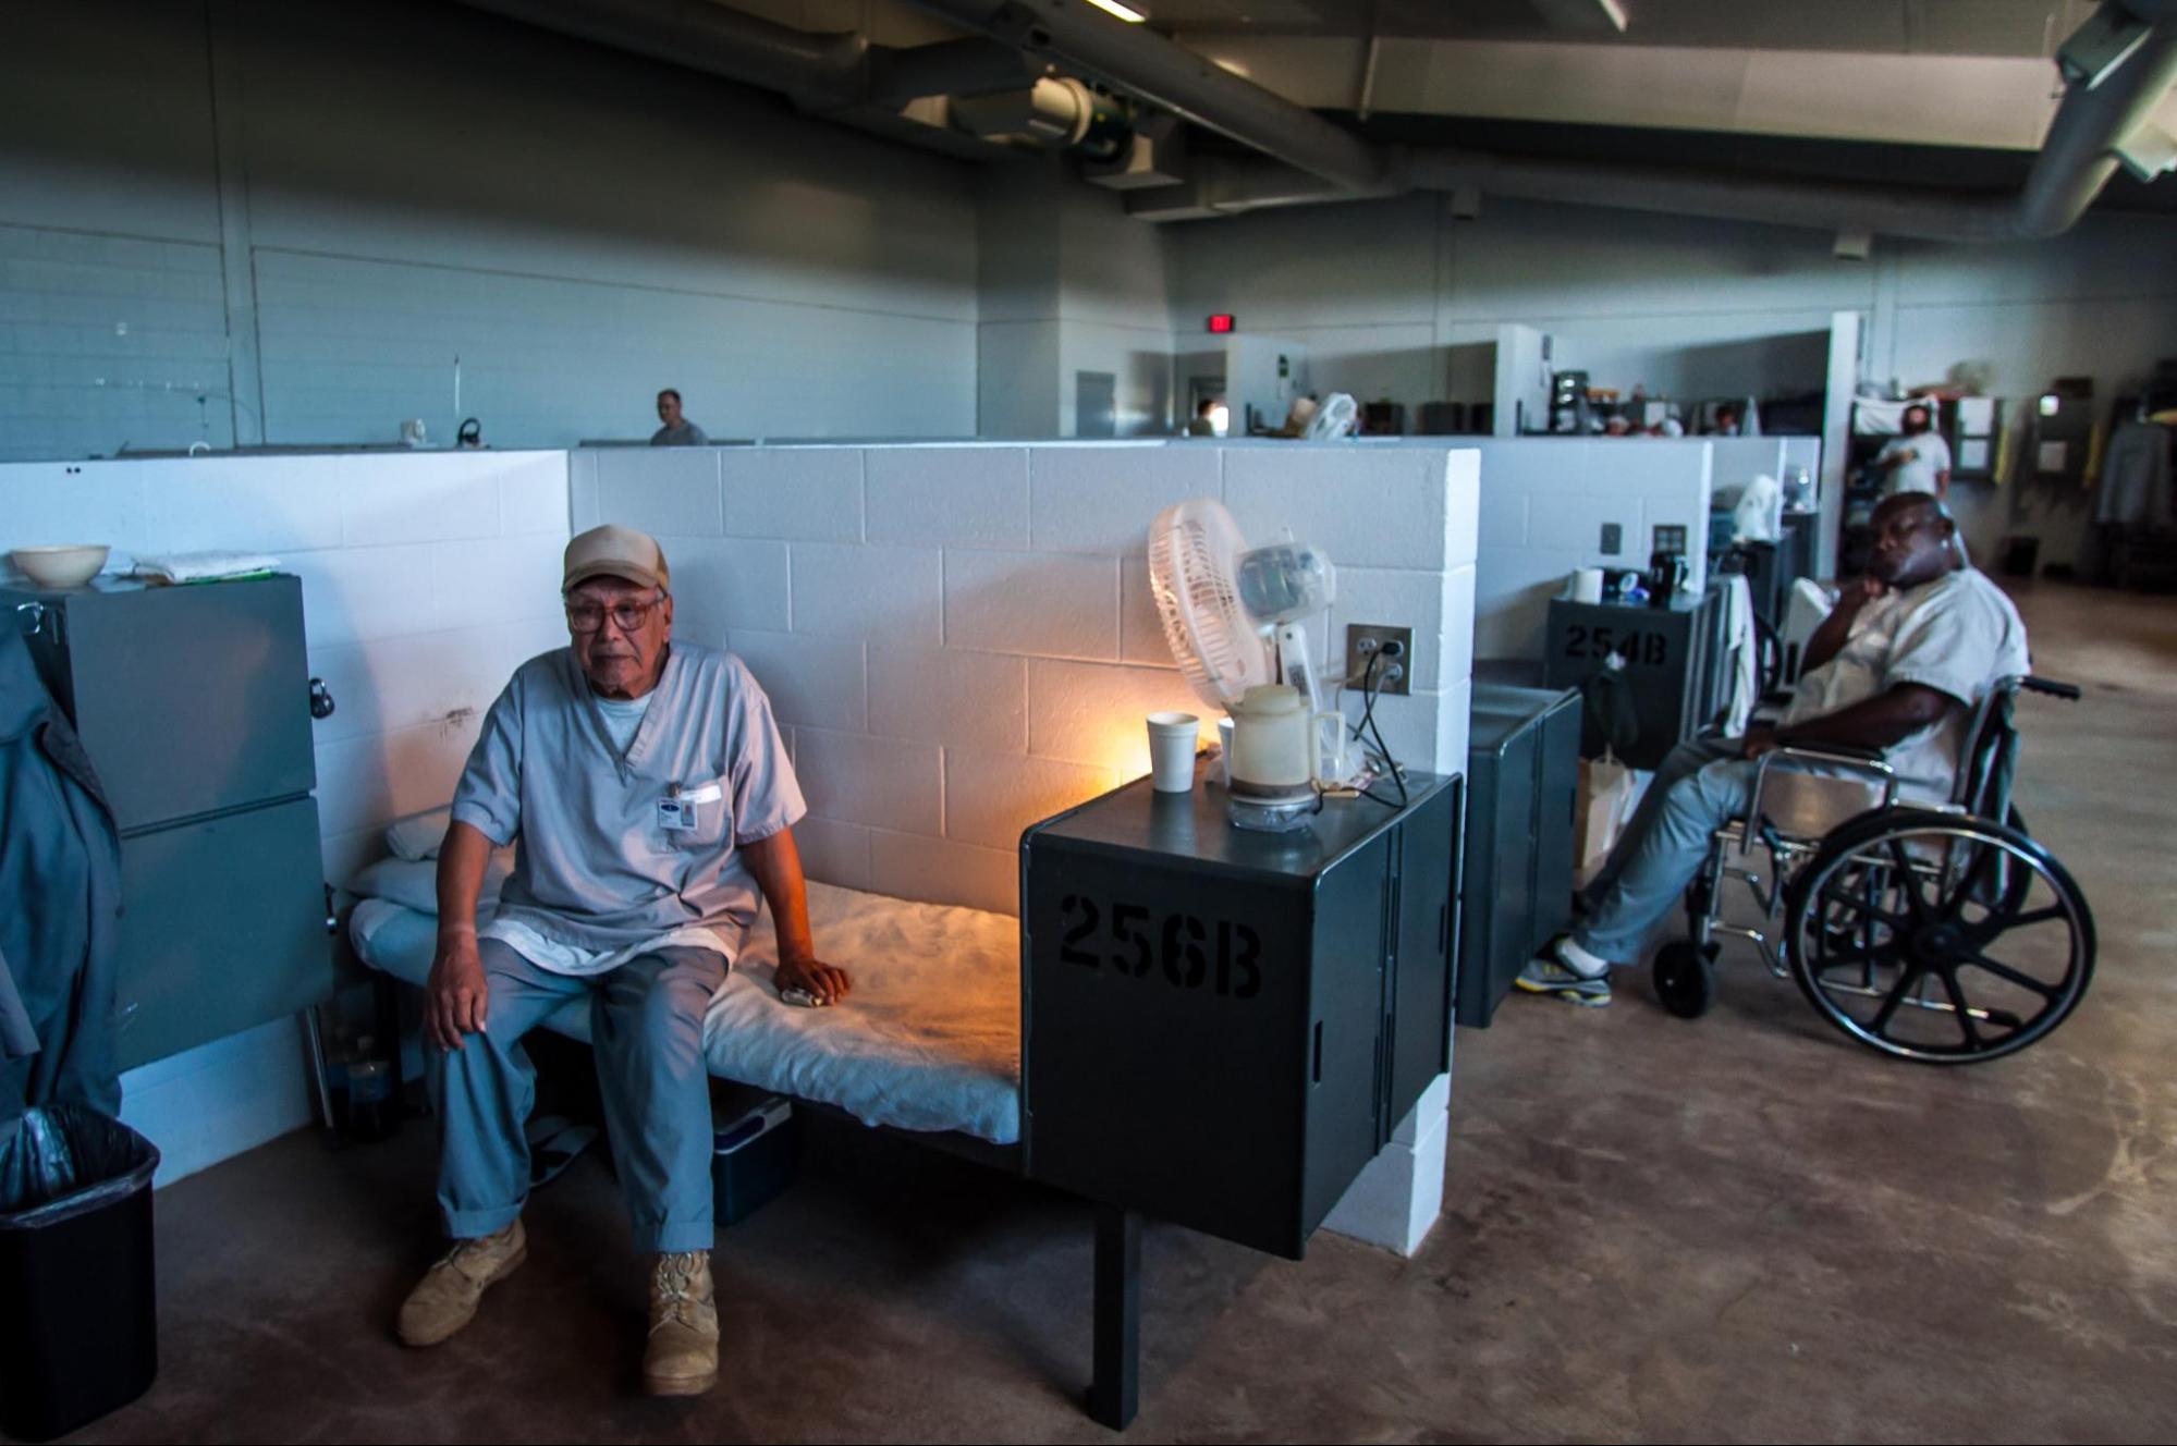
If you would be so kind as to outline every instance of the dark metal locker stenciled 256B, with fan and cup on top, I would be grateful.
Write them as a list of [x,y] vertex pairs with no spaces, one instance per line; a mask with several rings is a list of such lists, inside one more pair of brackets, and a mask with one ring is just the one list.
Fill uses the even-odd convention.
[[1300,1259],[1450,1067],[1456,777],[1254,834],[1139,780],[1021,838],[1028,1174]]

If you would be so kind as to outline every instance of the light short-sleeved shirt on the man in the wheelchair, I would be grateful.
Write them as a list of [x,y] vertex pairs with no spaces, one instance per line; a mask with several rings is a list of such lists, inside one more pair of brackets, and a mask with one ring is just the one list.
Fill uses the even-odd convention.
[[2027,671],[2027,627],[2012,599],[1979,568],[1957,568],[1861,608],[1837,655],[1798,679],[1783,725],[1850,708],[1896,684],[1948,693],[1966,708],[1883,749],[1901,797],[1940,804],[1951,797],[1972,706],[1996,679]]

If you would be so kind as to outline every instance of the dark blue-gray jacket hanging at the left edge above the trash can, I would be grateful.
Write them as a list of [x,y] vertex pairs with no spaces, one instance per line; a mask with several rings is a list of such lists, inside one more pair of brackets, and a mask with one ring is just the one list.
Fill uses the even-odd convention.
[[0,625],[0,1122],[52,1102],[120,1108],[120,834],[91,760]]

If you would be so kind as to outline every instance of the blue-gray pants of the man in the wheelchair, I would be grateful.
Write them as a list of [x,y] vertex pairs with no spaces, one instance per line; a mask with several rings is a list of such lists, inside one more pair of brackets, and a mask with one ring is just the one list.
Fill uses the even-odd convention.
[[1744,738],[1687,738],[1657,767],[1624,836],[1587,884],[1587,923],[1572,941],[1613,965],[1637,965],[1641,945],[1709,858],[1709,841],[1746,812],[1755,788]]

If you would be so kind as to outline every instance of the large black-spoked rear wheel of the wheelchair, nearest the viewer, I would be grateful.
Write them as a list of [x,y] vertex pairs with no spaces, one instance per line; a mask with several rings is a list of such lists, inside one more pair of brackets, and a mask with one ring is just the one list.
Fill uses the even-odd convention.
[[1896,1058],[1970,1065],[2064,1024],[2094,976],[2094,915],[2025,830],[1924,808],[1846,823],[1792,880],[1800,993]]

